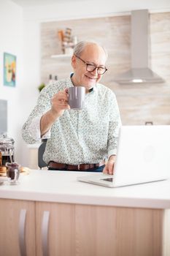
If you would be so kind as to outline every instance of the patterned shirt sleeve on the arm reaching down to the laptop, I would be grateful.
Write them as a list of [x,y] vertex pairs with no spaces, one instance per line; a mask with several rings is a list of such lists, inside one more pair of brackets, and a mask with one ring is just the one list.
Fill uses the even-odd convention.
[[117,105],[117,99],[112,92],[109,99],[109,134],[108,134],[108,159],[111,155],[117,154],[117,142],[120,127],[122,125],[120,119],[120,111]]

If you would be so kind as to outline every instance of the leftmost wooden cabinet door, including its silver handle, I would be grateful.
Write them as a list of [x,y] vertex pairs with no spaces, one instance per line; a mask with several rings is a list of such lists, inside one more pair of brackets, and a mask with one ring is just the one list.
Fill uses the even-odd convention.
[[35,203],[0,199],[0,255],[35,255]]

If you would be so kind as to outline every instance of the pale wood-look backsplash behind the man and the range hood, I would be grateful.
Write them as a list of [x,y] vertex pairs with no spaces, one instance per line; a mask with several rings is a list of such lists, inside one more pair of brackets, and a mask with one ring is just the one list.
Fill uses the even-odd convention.
[[170,124],[170,12],[150,14],[151,67],[166,80],[161,84],[120,86],[114,82],[115,75],[131,64],[130,15],[42,23],[42,82],[47,83],[50,74],[61,79],[72,72],[71,58],[50,57],[61,54],[58,30],[67,27],[78,41],[94,39],[107,48],[109,70],[101,83],[115,91],[123,124]]

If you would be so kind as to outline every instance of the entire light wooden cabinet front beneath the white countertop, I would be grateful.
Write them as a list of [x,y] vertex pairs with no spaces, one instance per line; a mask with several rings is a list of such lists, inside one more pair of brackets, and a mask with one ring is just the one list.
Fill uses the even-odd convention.
[[[161,255],[163,211],[158,209],[4,199],[0,204],[3,220],[0,255],[3,256],[20,255],[20,251],[28,256]],[[22,230],[23,210],[26,210],[26,222]]]

